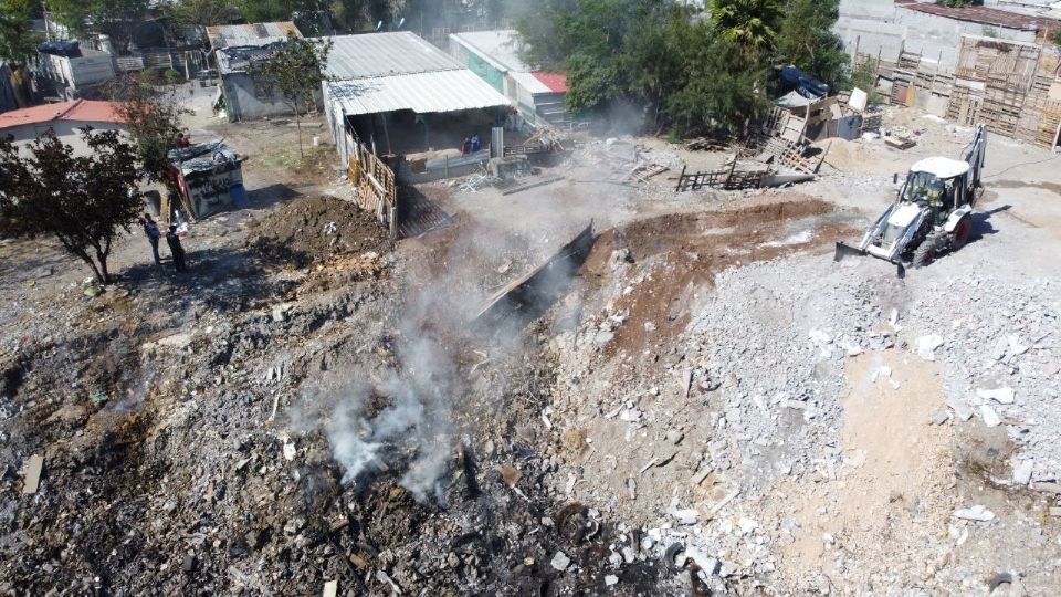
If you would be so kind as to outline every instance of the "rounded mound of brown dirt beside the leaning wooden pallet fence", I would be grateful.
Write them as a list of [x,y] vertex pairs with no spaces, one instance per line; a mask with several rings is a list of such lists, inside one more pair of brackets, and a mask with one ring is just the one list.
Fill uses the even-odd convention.
[[371,213],[334,197],[296,199],[251,226],[248,247],[294,268],[391,248],[387,230]]

